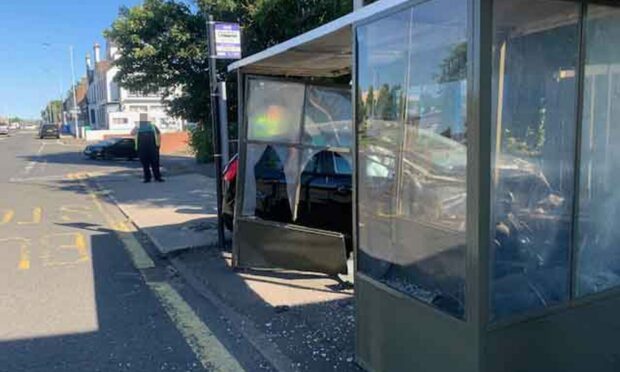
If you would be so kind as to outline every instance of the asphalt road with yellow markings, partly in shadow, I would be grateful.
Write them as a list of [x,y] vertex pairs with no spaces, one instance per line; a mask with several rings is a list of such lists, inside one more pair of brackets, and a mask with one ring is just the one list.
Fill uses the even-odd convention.
[[137,164],[78,151],[0,138],[0,371],[240,369],[83,179]]

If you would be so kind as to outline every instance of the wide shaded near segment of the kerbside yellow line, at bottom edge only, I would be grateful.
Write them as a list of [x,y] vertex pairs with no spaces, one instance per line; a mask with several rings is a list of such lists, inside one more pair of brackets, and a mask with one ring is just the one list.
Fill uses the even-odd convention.
[[208,371],[243,371],[237,359],[200,320],[181,295],[165,282],[147,283],[203,367]]

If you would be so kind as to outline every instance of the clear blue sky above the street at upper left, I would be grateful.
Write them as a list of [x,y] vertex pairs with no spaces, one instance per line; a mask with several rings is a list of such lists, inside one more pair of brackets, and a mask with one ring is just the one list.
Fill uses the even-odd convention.
[[[0,0],[0,115],[38,118],[50,99],[71,83],[69,45],[76,79],[84,58],[122,5],[140,0]],[[44,43],[54,44],[45,47]]]

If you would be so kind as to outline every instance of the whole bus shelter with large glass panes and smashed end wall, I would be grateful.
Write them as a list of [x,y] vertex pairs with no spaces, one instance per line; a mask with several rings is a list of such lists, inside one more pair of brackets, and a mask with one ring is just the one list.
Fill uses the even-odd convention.
[[254,75],[350,78],[362,367],[620,370],[618,40],[613,1],[380,0],[230,67],[246,165]]

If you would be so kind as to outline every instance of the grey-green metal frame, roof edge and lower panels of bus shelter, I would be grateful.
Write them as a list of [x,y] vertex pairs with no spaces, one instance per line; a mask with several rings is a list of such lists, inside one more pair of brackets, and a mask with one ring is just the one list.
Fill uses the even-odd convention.
[[[357,97],[359,45],[358,27],[394,14],[403,9],[432,0],[382,0],[343,18],[319,27],[285,43],[269,48],[254,56],[238,61],[229,67],[237,70],[239,76],[240,133],[246,133],[247,122],[244,115],[245,76],[260,75],[307,79],[312,71],[289,68],[287,55],[295,50],[305,50],[308,45],[330,34],[350,30],[350,73],[352,76],[352,97]],[[581,156],[581,130],[583,111],[583,91],[585,74],[584,17],[589,4],[619,6],[608,0],[561,0],[581,4],[579,13],[579,51],[577,65],[577,135],[575,164]],[[541,360],[539,351],[527,347],[528,340],[549,337],[548,352],[562,352],[559,343],[563,337],[571,338],[571,345],[586,346],[587,342],[605,344],[610,341],[610,331],[597,323],[593,327],[602,331],[602,340],[592,340],[591,332],[584,330],[581,321],[594,317],[613,316],[620,308],[620,288],[615,287],[600,293],[577,297],[575,294],[575,247],[570,250],[570,292],[569,299],[558,305],[525,312],[498,322],[490,321],[490,281],[492,234],[492,133],[493,133],[493,47],[494,47],[494,1],[468,0],[468,47],[467,47],[467,214],[466,214],[466,271],[465,271],[465,317],[457,319],[426,303],[401,293],[379,281],[359,272],[355,262],[356,277],[356,320],[357,320],[357,361],[368,370],[463,370],[463,371],[512,371],[523,365],[531,370],[549,370],[553,360]],[[337,57],[338,51],[333,51]],[[266,63],[269,62],[269,63]],[[278,65],[278,63],[280,63]],[[338,73],[346,69],[338,69]],[[334,76],[330,71],[317,71],[320,76]],[[353,105],[353,247],[358,257],[359,246],[359,143],[357,136],[357,105]],[[245,174],[245,154],[241,152],[240,174]],[[579,185],[579,167],[576,168],[575,185]],[[242,193],[237,192],[238,198]],[[578,188],[572,202],[573,213],[578,210]],[[238,199],[241,200],[241,199]],[[240,215],[237,204],[237,215]],[[573,219],[575,215],[573,215]],[[235,224],[237,221],[235,220]],[[576,228],[572,230],[575,239]],[[237,249],[237,247],[236,247]],[[236,251],[236,254],[239,254]],[[389,316],[387,315],[389,314]],[[388,319],[389,318],[389,319]],[[412,320],[413,319],[413,320]],[[611,318],[610,318],[611,319]],[[613,326],[618,326],[616,321]],[[562,331],[558,333],[558,329]],[[583,338],[583,340],[579,340]],[[431,340],[431,341],[429,341]],[[399,346],[400,345],[400,346]],[[402,345],[407,345],[404,349]],[[516,366],[506,361],[514,357],[509,348],[523,348],[519,355],[523,361]],[[417,352],[416,352],[417,351]],[[568,353],[575,350],[563,350]],[[606,349],[609,352],[609,348]],[[438,357],[442,355],[442,357]],[[563,367],[570,365],[573,370],[583,370],[591,366],[591,359],[583,360],[565,356]],[[549,359],[549,358],[547,358]],[[569,363],[570,362],[570,363]],[[528,364],[530,363],[530,364]],[[557,365],[556,365],[557,366]],[[606,365],[609,367],[609,365]],[[430,369],[429,369],[430,368]],[[511,369],[516,368],[516,369]],[[545,369],[546,368],[546,369]],[[619,367],[620,368],[620,367]]]

